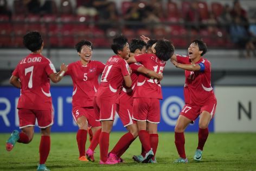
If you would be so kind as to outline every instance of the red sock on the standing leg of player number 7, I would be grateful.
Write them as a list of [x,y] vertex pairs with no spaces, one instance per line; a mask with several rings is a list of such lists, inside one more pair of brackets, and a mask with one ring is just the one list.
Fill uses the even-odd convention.
[[50,152],[50,136],[42,135],[40,146],[39,146],[39,153],[40,153],[39,164],[40,165],[46,163],[49,152]]

